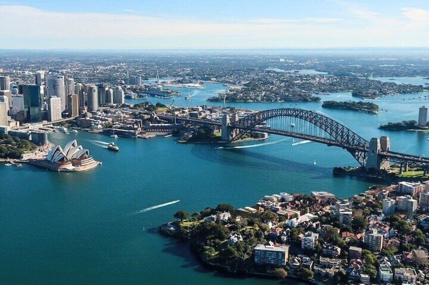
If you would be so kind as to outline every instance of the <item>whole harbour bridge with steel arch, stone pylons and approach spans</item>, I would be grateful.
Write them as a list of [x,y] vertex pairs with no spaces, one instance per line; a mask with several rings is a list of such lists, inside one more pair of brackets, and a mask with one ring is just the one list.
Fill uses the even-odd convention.
[[264,132],[323,143],[347,150],[366,168],[386,169],[390,162],[398,163],[401,170],[409,165],[429,169],[429,158],[390,150],[388,137],[367,141],[351,129],[316,111],[278,108],[252,113],[239,118],[225,114],[222,123],[212,120],[158,116],[163,120],[193,126],[209,125],[220,128],[224,141],[238,141],[250,133]]

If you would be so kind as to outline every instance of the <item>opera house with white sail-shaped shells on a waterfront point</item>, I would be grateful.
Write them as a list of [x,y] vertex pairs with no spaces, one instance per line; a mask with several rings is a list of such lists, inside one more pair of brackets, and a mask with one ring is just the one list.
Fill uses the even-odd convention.
[[54,171],[82,171],[92,169],[100,164],[99,161],[90,156],[90,151],[78,145],[76,140],[70,141],[64,148],[60,145],[54,145],[48,152],[46,159],[29,162]]

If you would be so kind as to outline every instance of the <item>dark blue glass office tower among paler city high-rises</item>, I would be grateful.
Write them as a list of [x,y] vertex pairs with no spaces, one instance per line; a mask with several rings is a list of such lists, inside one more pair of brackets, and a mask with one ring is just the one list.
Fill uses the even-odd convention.
[[41,121],[41,108],[43,95],[42,86],[36,84],[22,85],[22,95],[24,97],[24,112],[26,121],[34,123]]

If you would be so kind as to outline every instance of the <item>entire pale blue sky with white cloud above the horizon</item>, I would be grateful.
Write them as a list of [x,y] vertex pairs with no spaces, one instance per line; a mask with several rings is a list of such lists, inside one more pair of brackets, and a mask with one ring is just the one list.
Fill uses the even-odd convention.
[[0,0],[0,49],[429,47],[429,0]]

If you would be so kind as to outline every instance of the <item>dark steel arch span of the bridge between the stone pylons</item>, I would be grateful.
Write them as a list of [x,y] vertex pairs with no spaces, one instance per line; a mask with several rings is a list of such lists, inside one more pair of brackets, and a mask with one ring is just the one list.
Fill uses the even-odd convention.
[[[297,120],[301,120],[303,122],[307,122],[309,126],[312,125],[313,130],[305,133],[303,131],[258,127],[264,122],[275,118],[294,118]],[[295,108],[264,110],[241,118],[238,121],[231,122],[231,129],[232,141],[239,140],[250,131],[260,131],[315,141],[327,144],[328,146],[341,147],[349,151],[362,166],[365,165],[368,153],[369,142],[367,140],[365,140],[346,126],[318,112],[310,110]],[[320,135],[320,131],[324,132],[324,136]]]

